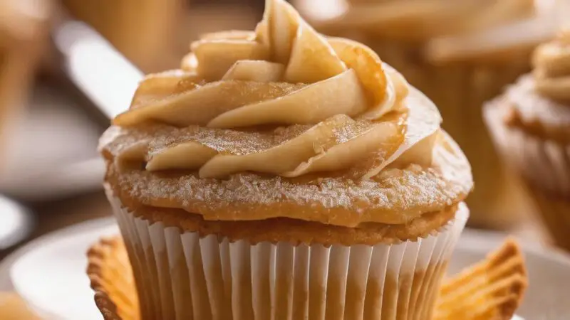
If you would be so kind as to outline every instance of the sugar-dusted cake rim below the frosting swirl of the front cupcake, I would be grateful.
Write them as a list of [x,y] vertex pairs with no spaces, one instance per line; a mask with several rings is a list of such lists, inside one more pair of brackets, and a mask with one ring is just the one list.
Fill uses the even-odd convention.
[[[440,153],[447,154],[439,147]],[[286,216],[332,225],[407,223],[461,201],[470,185],[436,168],[385,169],[373,179],[345,176],[284,178],[234,174],[224,180],[196,172],[121,171],[110,164],[108,181],[147,206],[184,208],[206,220],[260,220]],[[116,183],[116,184],[115,184]]]

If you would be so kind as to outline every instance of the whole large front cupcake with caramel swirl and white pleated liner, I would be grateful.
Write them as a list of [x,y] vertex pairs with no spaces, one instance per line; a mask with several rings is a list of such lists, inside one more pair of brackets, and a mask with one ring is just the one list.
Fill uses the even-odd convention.
[[191,48],[100,142],[141,319],[429,319],[472,189],[437,107],[283,0]]

